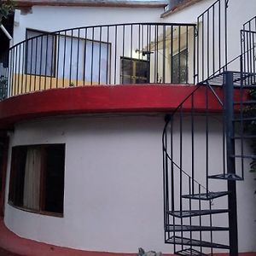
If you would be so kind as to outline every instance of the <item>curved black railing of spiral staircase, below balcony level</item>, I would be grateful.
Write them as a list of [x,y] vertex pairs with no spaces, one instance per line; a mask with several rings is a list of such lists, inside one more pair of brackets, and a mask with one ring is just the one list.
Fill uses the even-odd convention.
[[[209,185],[208,177],[220,170],[227,172],[224,95],[218,96],[215,90],[209,84],[197,85],[177,109],[166,116],[162,137],[164,219],[166,242],[174,244],[175,252],[188,249],[187,239],[198,241],[200,253],[204,253],[203,247],[211,247],[212,253],[216,242],[221,242],[212,235],[214,225],[219,224],[212,220],[212,201],[208,200],[215,189]],[[216,132],[221,133],[219,141]],[[215,193],[216,197],[221,195]],[[216,207],[218,203],[215,203]],[[206,213],[196,217],[195,211],[202,210]],[[227,217],[225,219],[227,221]],[[182,237],[182,240],[178,241],[177,237]],[[228,240],[228,234],[226,238]]]

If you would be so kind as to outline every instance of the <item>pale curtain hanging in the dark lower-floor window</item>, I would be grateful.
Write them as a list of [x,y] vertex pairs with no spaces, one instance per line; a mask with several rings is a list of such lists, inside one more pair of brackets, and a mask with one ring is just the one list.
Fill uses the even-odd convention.
[[23,206],[40,210],[40,176],[42,152],[40,148],[27,148],[24,177]]

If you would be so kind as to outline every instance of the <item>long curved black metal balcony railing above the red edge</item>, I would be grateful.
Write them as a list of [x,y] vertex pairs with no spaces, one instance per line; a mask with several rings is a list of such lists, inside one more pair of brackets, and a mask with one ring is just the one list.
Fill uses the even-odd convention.
[[193,84],[195,25],[141,23],[27,30],[9,50],[9,96],[102,84]]

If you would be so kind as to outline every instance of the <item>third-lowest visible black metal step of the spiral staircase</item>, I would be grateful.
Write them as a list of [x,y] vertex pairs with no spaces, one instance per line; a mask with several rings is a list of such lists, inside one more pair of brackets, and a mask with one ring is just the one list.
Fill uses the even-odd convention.
[[211,226],[195,226],[195,225],[168,225],[166,231],[169,232],[186,232],[186,231],[228,231],[228,227],[211,227]]

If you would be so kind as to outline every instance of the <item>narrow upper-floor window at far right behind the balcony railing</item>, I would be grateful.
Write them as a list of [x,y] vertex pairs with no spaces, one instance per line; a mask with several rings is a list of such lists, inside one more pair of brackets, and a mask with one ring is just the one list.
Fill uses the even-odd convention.
[[172,83],[188,83],[188,49],[183,49],[172,56]]

